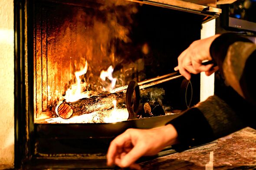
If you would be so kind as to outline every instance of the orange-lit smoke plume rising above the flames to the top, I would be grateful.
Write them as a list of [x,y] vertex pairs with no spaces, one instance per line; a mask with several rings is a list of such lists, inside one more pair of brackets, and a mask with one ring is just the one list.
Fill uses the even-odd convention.
[[76,51],[89,63],[85,77],[90,90],[105,90],[109,85],[99,80],[100,72],[111,65],[115,68],[123,61],[116,50],[120,44],[131,43],[129,33],[132,15],[138,11],[137,5],[125,0],[106,0],[98,9],[83,9],[75,13]]

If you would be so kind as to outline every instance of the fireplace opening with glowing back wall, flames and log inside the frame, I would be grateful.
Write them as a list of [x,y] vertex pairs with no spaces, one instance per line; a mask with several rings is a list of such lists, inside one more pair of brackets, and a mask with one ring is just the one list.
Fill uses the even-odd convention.
[[[177,56],[200,38],[201,18],[196,15],[129,1],[80,5],[47,0],[34,4],[35,123],[127,120],[125,93],[109,93],[131,80],[174,73]],[[142,103],[169,113],[187,109],[179,102],[189,100],[191,105],[190,97],[165,95],[180,91],[184,78],[179,79],[141,90]],[[117,101],[116,117],[110,116],[113,109],[105,110],[114,108],[112,100]]]

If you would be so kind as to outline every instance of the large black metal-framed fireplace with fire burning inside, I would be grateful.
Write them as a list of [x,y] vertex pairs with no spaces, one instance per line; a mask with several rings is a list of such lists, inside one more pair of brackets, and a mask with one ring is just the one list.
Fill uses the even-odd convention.
[[[200,100],[200,77],[191,82],[179,77],[141,90],[141,104],[158,106],[162,115],[142,113],[114,122],[103,116],[97,122],[92,117],[81,121],[91,114],[82,112],[74,121],[73,110],[59,118],[58,103],[74,102],[79,88],[83,100],[80,92],[114,94],[131,80],[176,75],[178,55],[200,39],[201,24],[220,11],[214,2],[173,3],[16,0],[16,167],[106,168],[105,154],[115,136],[127,128],[164,125]],[[126,103],[119,104],[128,114]]]

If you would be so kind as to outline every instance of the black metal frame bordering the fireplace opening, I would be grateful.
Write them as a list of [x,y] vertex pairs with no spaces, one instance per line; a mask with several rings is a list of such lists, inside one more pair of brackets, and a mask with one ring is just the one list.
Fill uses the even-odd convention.
[[[35,0],[34,0],[35,1]],[[58,1],[58,0],[55,0]],[[61,0],[59,0],[61,1]],[[62,0],[63,2],[68,2],[68,0]],[[131,0],[139,3],[146,3],[151,4],[154,6],[161,6],[165,8],[171,8],[174,10],[182,10],[190,13],[197,13],[200,15],[205,16],[202,20],[203,22],[207,22],[211,19],[217,18],[221,11],[217,10],[214,7],[207,7],[204,5],[194,4],[194,6],[200,6],[201,10],[195,9],[187,9],[182,6],[175,6],[171,4],[163,4],[154,1],[139,1],[139,0]],[[179,0],[175,0],[178,2]],[[79,3],[79,0],[75,0],[75,3]],[[203,7],[203,8],[202,8]],[[203,9],[203,10],[202,10]],[[35,155],[35,144],[36,140],[38,140],[38,136],[40,140],[45,140],[44,137],[50,137],[53,140],[53,143],[56,142],[55,140],[56,135],[61,138],[63,134],[59,132],[59,129],[63,129],[62,125],[59,124],[34,124],[34,77],[33,75],[33,0],[14,0],[14,30],[15,30],[15,58],[14,58],[14,71],[15,71],[15,157],[14,157],[14,164],[15,168],[24,168],[29,169],[33,167],[33,169],[42,169],[42,168],[49,168],[49,167],[56,167],[56,168],[75,168],[72,166],[73,163],[77,164],[80,167],[87,168],[87,165],[83,165],[85,162],[82,159],[61,159],[61,160],[54,160],[53,157],[49,155],[41,155],[42,159],[38,159],[38,155]],[[170,115],[166,116],[167,120],[174,119],[177,115]],[[165,120],[165,121],[167,121]],[[124,132],[127,128],[152,128],[157,127],[159,125],[164,125],[161,116],[154,117],[152,119],[141,119],[141,120],[130,120],[126,122],[118,122],[115,125],[112,125],[111,128],[114,129],[110,132],[111,134],[106,133],[106,140],[103,142],[104,146],[102,147],[105,149],[109,142],[112,140],[113,135],[118,135],[120,132]],[[71,132],[83,130],[89,130],[92,125],[77,125],[77,124],[70,124],[64,127],[64,131],[67,129],[72,129]],[[90,142],[91,137],[94,136],[95,132],[99,129],[106,128],[110,125],[108,124],[101,124],[95,125],[92,128],[93,130],[86,136],[80,136],[85,141],[88,140]],[[119,129],[118,132],[116,129]],[[120,131],[121,129],[121,131]],[[49,130],[49,131],[48,131]],[[37,133],[36,133],[37,132]],[[57,133],[56,133],[57,132]],[[72,137],[72,134],[69,134]],[[77,137],[77,136],[76,136]],[[48,139],[47,139],[48,140]],[[45,142],[49,142],[49,141]],[[66,142],[66,141],[65,141]],[[86,149],[86,147],[84,148]],[[160,155],[171,153],[173,151],[164,151]],[[77,156],[74,156],[77,157]],[[96,164],[96,160],[91,159],[87,160],[87,164]],[[97,162],[99,167],[104,167],[105,159],[102,159]],[[94,168],[98,168],[95,166]]]

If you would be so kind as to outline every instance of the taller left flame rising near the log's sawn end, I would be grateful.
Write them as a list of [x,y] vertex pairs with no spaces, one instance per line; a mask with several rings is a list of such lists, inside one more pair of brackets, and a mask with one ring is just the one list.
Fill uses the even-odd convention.
[[76,84],[74,84],[70,89],[66,91],[66,95],[64,96],[64,99],[66,99],[67,102],[75,102],[79,99],[88,97],[88,93],[81,93],[81,79],[79,76],[82,76],[87,72],[88,64],[87,61],[85,61],[85,67],[81,71],[75,72],[75,78],[76,78]]

